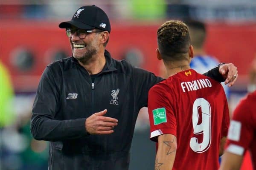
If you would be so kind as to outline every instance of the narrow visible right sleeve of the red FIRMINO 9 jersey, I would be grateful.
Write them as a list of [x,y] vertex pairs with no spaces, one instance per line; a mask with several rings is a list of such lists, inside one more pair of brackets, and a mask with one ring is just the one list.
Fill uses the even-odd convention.
[[228,109],[226,97],[225,97],[224,103],[225,104],[224,104],[223,118],[222,118],[222,123],[221,123],[221,138],[227,136],[228,127],[230,125],[230,116],[229,116],[229,109]]

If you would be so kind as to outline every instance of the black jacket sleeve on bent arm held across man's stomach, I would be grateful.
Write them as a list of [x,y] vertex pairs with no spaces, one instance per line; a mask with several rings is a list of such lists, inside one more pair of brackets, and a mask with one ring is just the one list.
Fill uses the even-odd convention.
[[[56,77],[55,77],[56,78]],[[88,135],[85,120],[56,120],[60,91],[50,68],[42,74],[38,85],[31,116],[31,133],[37,140],[61,141]]]

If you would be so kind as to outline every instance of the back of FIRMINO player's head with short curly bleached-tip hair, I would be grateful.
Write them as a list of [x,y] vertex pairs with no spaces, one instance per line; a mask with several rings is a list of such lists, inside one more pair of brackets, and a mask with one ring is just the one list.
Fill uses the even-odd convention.
[[163,60],[183,60],[189,51],[189,28],[178,20],[163,23],[157,30],[157,45]]

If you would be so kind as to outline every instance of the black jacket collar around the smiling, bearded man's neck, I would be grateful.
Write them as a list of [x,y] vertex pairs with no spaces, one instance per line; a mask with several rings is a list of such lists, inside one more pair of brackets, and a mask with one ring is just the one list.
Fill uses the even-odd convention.
[[[116,71],[117,69],[114,66],[113,58],[111,57],[110,53],[107,50],[105,50],[104,55],[106,58],[106,65],[104,66],[104,68],[101,72],[107,73],[107,72],[111,72],[111,71]],[[71,62],[74,62],[74,63],[80,65],[79,62],[77,61],[77,59],[74,58],[73,56],[71,57]]]

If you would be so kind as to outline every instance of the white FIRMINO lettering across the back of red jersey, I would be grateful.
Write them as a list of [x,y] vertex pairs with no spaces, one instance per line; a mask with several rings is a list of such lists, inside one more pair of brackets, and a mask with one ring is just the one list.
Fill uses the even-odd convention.
[[197,79],[192,82],[181,82],[180,83],[182,91],[185,93],[187,91],[196,91],[201,88],[210,88],[212,87],[212,83],[209,79]]

